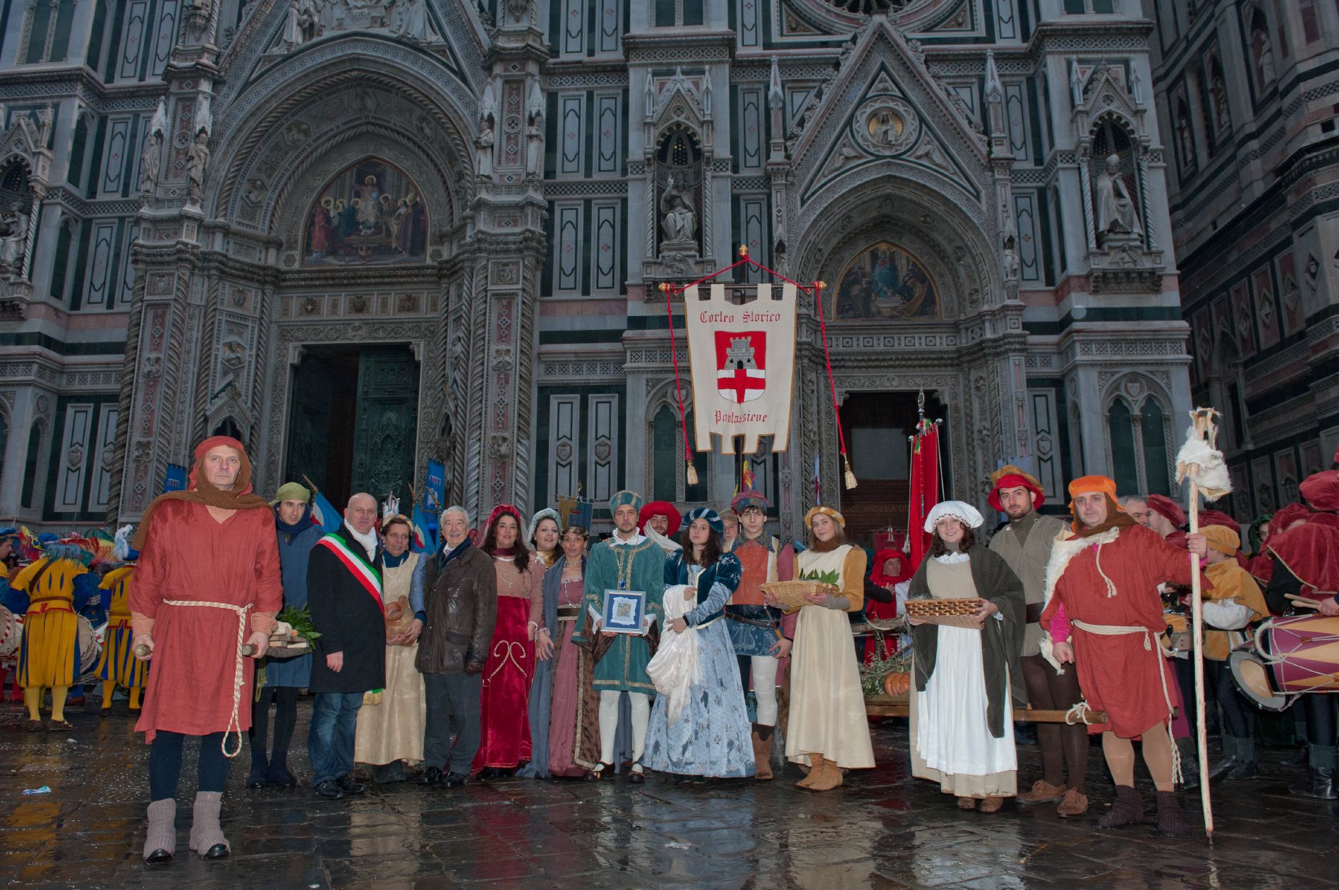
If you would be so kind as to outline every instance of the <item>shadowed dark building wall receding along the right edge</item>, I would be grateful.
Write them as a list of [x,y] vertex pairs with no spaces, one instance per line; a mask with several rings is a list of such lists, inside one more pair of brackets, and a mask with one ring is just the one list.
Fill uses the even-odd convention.
[[1153,37],[1198,404],[1237,515],[1339,447],[1339,4],[1160,3]]

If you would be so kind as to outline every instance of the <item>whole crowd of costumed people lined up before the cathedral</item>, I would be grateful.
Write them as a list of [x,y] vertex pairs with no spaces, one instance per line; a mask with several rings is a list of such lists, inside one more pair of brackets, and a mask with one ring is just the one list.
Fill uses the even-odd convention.
[[[214,436],[134,541],[129,527],[114,546],[44,537],[21,565],[20,535],[0,533],[4,606],[23,616],[27,728],[68,729],[76,681],[102,683],[103,713],[129,692],[151,745],[147,862],[175,854],[186,737],[202,740],[190,847],[205,858],[229,853],[220,808],[244,747],[248,788],[299,784],[288,751],[303,691],[309,782],[328,799],[366,791],[355,764],[376,783],[446,788],[513,775],[640,784],[648,771],[769,780],[795,764],[797,784],[822,792],[874,766],[862,679],[908,645],[912,774],[957,807],[990,814],[1016,798],[1085,814],[1095,735],[1115,786],[1097,824],[1144,819],[1139,741],[1157,827],[1184,836],[1177,782],[1259,776],[1253,703],[1229,654],[1299,604],[1339,616],[1339,454],[1302,484],[1307,503],[1248,527],[1249,557],[1231,517],[1202,510],[1188,533],[1177,503],[1118,495],[1105,476],[1070,483],[1069,517],[1042,513],[1042,484],[1014,466],[991,476],[1003,521],[988,542],[976,507],[943,501],[913,530],[928,541],[919,565],[848,541],[828,506],[805,515],[805,541],[782,541],[747,487],[728,509],[682,517],[620,491],[604,541],[550,509],[526,519],[502,505],[477,523],[451,506],[435,547],[414,546],[415,523],[370,494],[328,530],[313,522],[313,494],[287,483],[257,495],[242,444]],[[1194,770],[1193,573],[1205,685],[1221,711],[1223,758],[1208,776]],[[95,666],[79,642],[90,604],[106,613]],[[853,636],[856,616],[892,629],[886,648],[882,634]],[[1308,776],[1293,791],[1335,799],[1334,699],[1302,699]],[[1020,792],[1014,724],[1028,712],[1043,772]]]

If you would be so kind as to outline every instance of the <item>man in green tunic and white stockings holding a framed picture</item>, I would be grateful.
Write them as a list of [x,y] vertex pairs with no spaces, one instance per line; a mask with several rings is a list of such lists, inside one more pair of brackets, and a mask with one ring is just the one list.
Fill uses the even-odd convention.
[[[592,774],[613,774],[613,743],[619,729],[619,697],[627,692],[632,703],[632,783],[645,782],[641,772],[641,749],[651,717],[655,684],[647,676],[647,664],[659,640],[660,602],[664,593],[665,554],[656,542],[637,531],[641,495],[620,491],[609,499],[615,533],[590,549],[585,571],[585,605],[592,621],[586,632],[599,630],[596,641],[595,689],[600,693],[600,768]],[[607,590],[640,590],[645,594],[645,620],[640,634],[600,630],[595,616],[604,613]],[[586,632],[574,642],[585,642]]]

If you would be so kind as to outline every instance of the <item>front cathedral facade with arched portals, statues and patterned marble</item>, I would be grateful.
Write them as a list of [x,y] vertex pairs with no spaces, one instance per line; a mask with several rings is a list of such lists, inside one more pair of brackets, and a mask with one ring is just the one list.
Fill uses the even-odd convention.
[[719,507],[659,285],[740,246],[828,285],[790,448],[749,455],[782,529],[905,523],[919,396],[959,498],[1003,460],[1058,502],[1172,491],[1189,327],[1135,0],[5,9],[0,515],[133,522],[213,432],[261,493],[404,495],[437,459],[477,511]]

